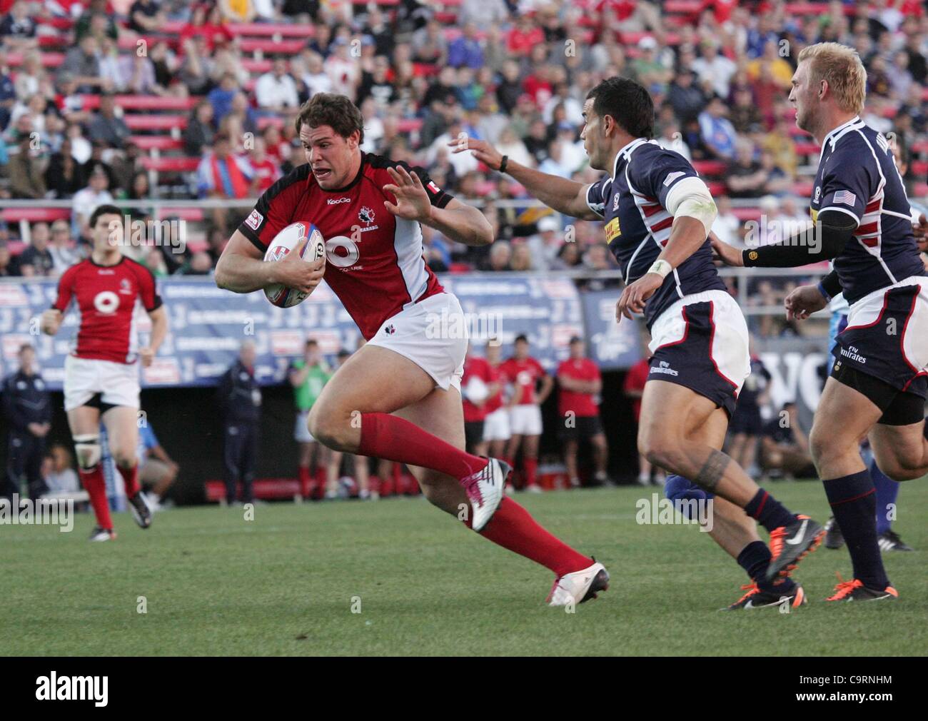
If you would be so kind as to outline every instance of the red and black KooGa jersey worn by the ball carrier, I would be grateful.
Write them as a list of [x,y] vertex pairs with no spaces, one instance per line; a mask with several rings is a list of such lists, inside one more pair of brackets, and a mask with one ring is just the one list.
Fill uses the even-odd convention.
[[396,202],[383,187],[393,184],[387,168],[398,166],[419,175],[436,208],[451,201],[421,168],[362,153],[358,174],[346,187],[325,190],[309,164],[301,165],[269,187],[238,227],[265,251],[287,225],[316,225],[326,238],[326,282],[368,341],[407,305],[445,291],[422,258],[419,223],[396,217],[384,206],[384,201]]

